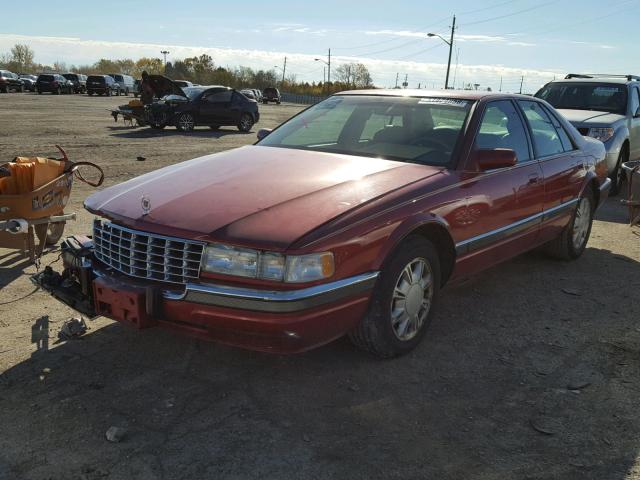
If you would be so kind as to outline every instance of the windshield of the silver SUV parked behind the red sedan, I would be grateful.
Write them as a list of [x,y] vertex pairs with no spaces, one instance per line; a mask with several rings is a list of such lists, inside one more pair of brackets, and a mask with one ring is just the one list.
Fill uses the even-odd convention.
[[625,115],[627,87],[602,83],[550,83],[536,97],[546,100],[555,108],[597,110]]

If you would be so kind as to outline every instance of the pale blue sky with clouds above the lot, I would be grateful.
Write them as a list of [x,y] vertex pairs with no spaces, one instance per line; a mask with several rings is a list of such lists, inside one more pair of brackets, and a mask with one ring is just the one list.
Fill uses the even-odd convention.
[[[640,0],[457,0],[373,2],[323,0],[249,1],[223,4],[110,0],[31,0],[29,8],[4,8],[0,53],[27,43],[36,60],[70,64],[104,58],[160,56],[169,60],[208,53],[223,66],[273,68],[288,57],[287,73],[322,80],[332,49],[335,66],[365,63],[378,86],[396,74],[410,87],[442,86],[448,47],[427,32],[448,37],[451,16],[458,29],[452,77],[456,85],[480,83],[525,91],[567,72],[640,73]],[[153,5],[153,6],[151,6]],[[384,6],[383,6],[384,5]],[[35,13],[37,12],[37,13]],[[454,68],[458,58],[458,68]],[[453,80],[453,78],[452,78]]]

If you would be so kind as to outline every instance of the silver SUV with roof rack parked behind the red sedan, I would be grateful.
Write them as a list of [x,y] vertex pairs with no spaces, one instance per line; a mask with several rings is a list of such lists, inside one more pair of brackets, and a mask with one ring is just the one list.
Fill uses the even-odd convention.
[[611,195],[624,181],[621,165],[640,159],[640,76],[569,74],[542,87],[546,100],[585,136],[607,149]]

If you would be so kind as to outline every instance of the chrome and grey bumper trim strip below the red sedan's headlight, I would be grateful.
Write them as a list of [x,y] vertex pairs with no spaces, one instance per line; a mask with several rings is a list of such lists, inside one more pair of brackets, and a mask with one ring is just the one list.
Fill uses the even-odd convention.
[[238,308],[267,313],[290,313],[333,303],[371,290],[380,272],[367,272],[300,290],[258,290],[216,284],[189,283],[184,291],[165,290],[168,301]]

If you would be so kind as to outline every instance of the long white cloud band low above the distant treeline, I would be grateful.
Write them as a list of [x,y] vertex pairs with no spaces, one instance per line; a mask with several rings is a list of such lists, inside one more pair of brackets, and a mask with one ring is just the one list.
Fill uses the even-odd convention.
[[[222,47],[204,46],[184,46],[166,45],[153,43],[128,43],[128,42],[108,42],[102,40],[84,40],[70,37],[45,37],[0,34],[0,52],[8,52],[16,43],[28,44],[36,53],[36,61],[40,63],[53,63],[63,61],[70,64],[91,64],[100,58],[139,58],[156,57],[161,58],[161,50],[169,50],[169,60],[192,57],[206,53],[213,57],[217,65],[235,67],[246,65],[256,69],[271,70],[274,65],[280,65],[283,58],[287,57],[287,72],[297,74],[298,80],[321,81],[324,64],[315,62],[317,55],[290,53],[284,51],[266,51],[235,49]],[[440,88],[444,76],[446,64],[444,63],[421,63],[412,61],[378,60],[361,58],[357,56],[334,56],[331,59],[332,71],[344,62],[364,63],[377,86],[393,86],[396,73],[401,76],[409,76],[410,86],[432,86]],[[454,71],[452,66],[451,75]],[[555,75],[560,75],[557,71],[541,71],[532,69],[521,69],[507,67],[503,65],[465,65],[460,64],[456,72],[457,84],[462,81],[491,85],[497,88],[500,77],[507,80],[519,82],[520,76],[524,75],[525,86],[530,86],[529,91],[537,88],[549,81]]]

